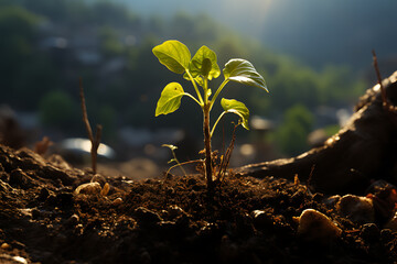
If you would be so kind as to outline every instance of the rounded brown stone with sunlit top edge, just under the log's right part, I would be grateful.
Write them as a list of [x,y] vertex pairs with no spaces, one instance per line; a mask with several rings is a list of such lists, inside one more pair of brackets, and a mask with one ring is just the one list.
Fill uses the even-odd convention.
[[373,200],[367,197],[345,195],[337,201],[336,210],[353,222],[369,223],[375,220]]

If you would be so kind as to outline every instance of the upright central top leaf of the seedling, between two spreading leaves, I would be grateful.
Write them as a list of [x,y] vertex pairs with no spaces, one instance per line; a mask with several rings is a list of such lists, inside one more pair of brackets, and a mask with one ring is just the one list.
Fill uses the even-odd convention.
[[194,78],[201,75],[208,77],[208,80],[221,75],[219,66],[216,63],[216,54],[206,46],[202,46],[194,54],[190,62],[189,70]]

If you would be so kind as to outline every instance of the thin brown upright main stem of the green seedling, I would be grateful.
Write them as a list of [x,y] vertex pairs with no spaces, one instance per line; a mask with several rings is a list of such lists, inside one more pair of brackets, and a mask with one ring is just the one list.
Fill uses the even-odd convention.
[[205,103],[203,107],[204,114],[204,145],[205,145],[205,177],[207,180],[208,191],[213,190],[213,167],[212,167],[212,154],[211,154],[211,132],[210,132],[210,108],[211,103]]

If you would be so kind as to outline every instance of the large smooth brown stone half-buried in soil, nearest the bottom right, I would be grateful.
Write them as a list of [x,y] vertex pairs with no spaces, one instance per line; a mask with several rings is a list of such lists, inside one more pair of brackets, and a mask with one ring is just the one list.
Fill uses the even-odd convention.
[[305,209],[299,218],[298,235],[307,241],[326,243],[342,234],[342,230],[324,213]]

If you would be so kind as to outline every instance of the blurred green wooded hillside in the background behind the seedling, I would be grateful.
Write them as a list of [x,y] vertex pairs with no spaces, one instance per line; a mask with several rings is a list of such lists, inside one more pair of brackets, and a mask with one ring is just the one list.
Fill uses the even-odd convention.
[[[282,32],[282,28],[273,32],[278,30]],[[163,143],[184,140],[181,160],[193,158],[202,147],[202,117],[196,106],[186,103],[183,111],[154,119],[155,102],[168,82],[180,81],[191,89],[151,52],[170,38],[185,43],[192,53],[207,45],[217,53],[221,68],[234,57],[255,65],[270,94],[229,86],[221,96],[244,101],[253,116],[273,123],[267,134],[239,131],[238,141],[276,144],[276,153],[286,155],[308,148],[307,136],[314,129],[335,128],[337,110],[348,112],[357,96],[375,81],[372,76],[364,78],[364,70],[328,61],[314,69],[221,24],[211,13],[141,15],[109,1],[0,0],[0,103],[36,125],[31,141],[42,135],[53,141],[86,136],[78,99],[82,77],[90,122],[104,125],[105,143],[148,154]],[[291,37],[290,43],[298,45],[299,41]],[[324,51],[315,54],[313,50],[313,57]],[[363,69],[371,68],[369,54],[371,50],[362,58],[367,61]],[[329,62],[337,63],[337,55],[333,57]],[[232,120],[224,122],[226,138]],[[215,139],[218,144],[224,141],[221,136]]]

